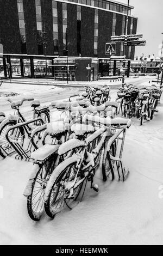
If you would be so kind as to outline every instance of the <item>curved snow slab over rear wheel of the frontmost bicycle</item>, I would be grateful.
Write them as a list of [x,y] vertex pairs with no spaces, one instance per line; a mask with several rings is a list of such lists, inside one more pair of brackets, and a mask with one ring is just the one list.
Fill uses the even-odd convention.
[[80,141],[79,139],[69,139],[65,143],[61,144],[58,149],[59,155],[64,155],[68,153],[70,150],[77,149],[80,147],[85,147],[85,141]]

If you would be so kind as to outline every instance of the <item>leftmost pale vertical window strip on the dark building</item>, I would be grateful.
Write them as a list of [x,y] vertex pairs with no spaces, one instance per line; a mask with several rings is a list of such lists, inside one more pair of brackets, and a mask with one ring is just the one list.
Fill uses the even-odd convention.
[[23,0],[17,0],[17,11],[18,11],[18,24],[20,31],[20,41],[21,41],[21,53],[27,53],[26,46],[26,26],[24,21],[24,9],[23,9]]

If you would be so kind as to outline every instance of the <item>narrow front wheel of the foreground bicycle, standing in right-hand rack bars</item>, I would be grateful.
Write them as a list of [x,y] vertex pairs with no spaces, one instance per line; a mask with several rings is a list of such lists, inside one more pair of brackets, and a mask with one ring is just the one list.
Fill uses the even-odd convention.
[[[112,156],[116,156],[116,142],[114,142],[111,145],[110,154]],[[102,162],[102,174],[103,174],[103,181],[114,180],[114,164],[115,161],[111,160],[110,157],[108,157],[108,151],[107,151],[107,143],[105,143],[104,146],[104,154],[103,154],[103,162]]]

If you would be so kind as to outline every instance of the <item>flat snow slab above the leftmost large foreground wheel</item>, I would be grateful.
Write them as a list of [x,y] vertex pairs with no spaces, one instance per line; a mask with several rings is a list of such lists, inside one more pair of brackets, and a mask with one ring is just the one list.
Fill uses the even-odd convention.
[[58,148],[59,145],[45,144],[41,148],[35,150],[30,157],[34,161],[41,162],[47,159],[47,157],[51,156],[53,153],[57,152]]

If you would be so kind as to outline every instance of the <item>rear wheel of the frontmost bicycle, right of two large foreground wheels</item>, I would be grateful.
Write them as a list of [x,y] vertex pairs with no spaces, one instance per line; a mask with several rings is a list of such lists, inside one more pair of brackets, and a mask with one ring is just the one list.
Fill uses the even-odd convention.
[[[54,218],[56,214],[65,210],[67,206],[68,208],[72,209],[78,203],[77,198],[80,194],[80,191],[82,190],[82,186],[84,183],[83,180],[79,185],[77,185],[77,187],[73,190],[73,198],[68,199],[68,196],[70,196],[70,191],[66,190],[65,184],[66,182],[70,182],[74,179],[77,172],[77,161],[73,161],[70,164],[67,162],[67,160],[62,162],[54,170],[53,175],[48,182],[44,206],[46,214],[51,218]],[[67,165],[66,162],[68,163]],[[79,172],[76,184],[81,179],[82,175]]]

